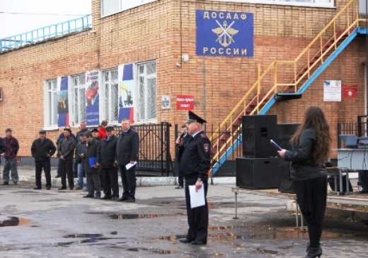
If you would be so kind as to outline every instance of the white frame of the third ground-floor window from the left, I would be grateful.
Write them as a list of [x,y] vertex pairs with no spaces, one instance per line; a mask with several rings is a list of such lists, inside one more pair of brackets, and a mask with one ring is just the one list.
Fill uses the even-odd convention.
[[[116,78],[113,79],[112,78],[112,74],[113,72],[115,72],[116,74]],[[106,81],[106,73],[108,74],[108,80]],[[119,94],[119,76],[118,76],[118,69],[117,67],[114,67],[112,69],[106,69],[101,71],[101,79],[102,79],[102,89],[99,89],[99,94],[100,94],[100,120],[107,120],[108,123],[110,125],[118,125],[119,124],[119,105],[118,102],[116,103],[116,105],[112,105],[112,103],[110,102],[111,99],[108,98],[111,94],[113,94],[112,90],[112,85],[116,84],[117,87],[117,91],[116,91],[116,99],[119,98],[118,94]],[[106,91],[108,90],[108,94],[106,94]],[[108,109],[108,111],[106,111],[106,108]],[[115,109],[115,112],[117,112],[117,118],[113,119],[113,109]]]

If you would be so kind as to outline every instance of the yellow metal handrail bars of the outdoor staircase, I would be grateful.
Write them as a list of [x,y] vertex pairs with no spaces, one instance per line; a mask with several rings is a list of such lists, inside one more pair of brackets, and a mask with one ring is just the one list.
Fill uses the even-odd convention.
[[[309,78],[311,76],[311,69],[313,69],[314,67],[316,67],[316,64],[320,63],[323,64],[323,62],[326,60],[324,59],[324,57],[328,54],[328,52],[330,50],[333,49],[333,47],[337,47],[337,43],[339,40],[341,40],[345,35],[350,35],[350,30],[352,30],[352,28],[358,26],[360,21],[363,21],[363,19],[359,18],[358,15],[358,9],[356,8],[355,10],[353,9],[352,12],[352,17],[350,17],[350,13],[349,13],[349,8],[350,6],[352,6],[352,3],[354,1],[357,0],[350,0],[349,2],[347,2],[347,4],[340,10],[338,11],[338,13],[336,13],[336,15],[331,19],[331,21],[329,21],[327,23],[327,25],[318,33],[318,35],[316,35],[316,37],[314,37],[314,39],[311,41],[311,43],[309,43],[309,45],[307,45],[303,51],[301,51],[301,53],[294,59],[294,60],[275,60],[273,62],[270,63],[270,65],[267,67],[267,69],[265,69],[262,74],[260,74],[260,64],[258,64],[258,79],[255,82],[255,84],[253,84],[253,86],[251,86],[251,88],[247,91],[247,93],[243,96],[243,98],[241,98],[241,100],[236,104],[236,106],[231,110],[231,112],[229,113],[228,116],[226,116],[226,118],[222,121],[222,123],[219,125],[219,127],[217,128],[217,130],[215,130],[215,132],[212,134],[212,137],[210,138],[210,140],[214,140],[217,138],[216,142],[214,142],[214,146],[216,147],[216,153],[214,153],[214,160],[217,160],[220,157],[220,154],[224,151],[224,149],[226,148],[226,146],[230,146],[231,144],[234,143],[235,140],[237,140],[237,137],[234,135],[230,135],[229,138],[226,139],[226,142],[222,145],[219,146],[219,140],[222,137],[222,135],[220,135],[220,133],[223,132],[231,132],[234,133],[232,125],[234,123],[234,121],[236,119],[238,119],[239,117],[243,116],[246,114],[246,110],[249,108],[249,106],[251,106],[253,101],[248,101],[248,99],[250,99],[251,94],[253,94],[256,98],[256,105],[253,107],[253,110],[249,113],[249,115],[253,115],[253,114],[258,114],[261,110],[262,107],[265,105],[265,103],[267,101],[269,101],[269,99],[277,94],[278,86],[294,86],[294,92],[297,92],[297,85],[301,82],[301,80],[303,80],[306,76]],[[354,7],[354,6],[353,6]],[[346,12],[346,13],[345,13]],[[343,33],[341,33],[338,37],[336,37],[336,21],[338,20],[338,18],[340,18],[340,16],[343,15],[343,13],[346,14],[346,21],[347,21],[347,25],[345,26],[345,31],[343,31]],[[351,23],[350,23],[351,21]],[[323,40],[323,34],[326,33],[326,31],[333,26],[333,37],[334,37],[334,41],[333,44],[331,44],[330,46],[326,46],[325,50],[323,50],[323,48],[325,47],[323,45],[323,42],[326,40]],[[318,42],[319,40],[319,42]],[[318,42],[319,46],[319,52],[321,53],[321,55],[319,55],[318,57],[314,57],[316,58],[316,60],[314,60],[313,63],[311,63],[311,50],[313,50],[313,46],[314,43]],[[304,57],[304,55],[306,55],[306,57]],[[306,58],[306,61],[301,60],[302,57]],[[302,62],[301,64],[299,64],[300,62]],[[303,64],[304,62],[304,64]],[[306,63],[305,63],[306,62]],[[292,80],[291,83],[280,83],[277,82],[277,75],[280,71],[282,71],[281,69],[279,69],[279,67],[277,67],[278,64],[290,64],[292,65],[292,73],[294,74],[294,79]],[[299,66],[298,66],[299,64]],[[300,77],[297,79],[297,69],[300,69],[301,67],[305,67],[306,70],[303,72],[303,74],[299,74]],[[260,89],[261,89],[261,82],[263,79],[265,79],[265,77],[270,74],[270,72],[273,72],[273,86],[271,87],[271,89],[268,90],[268,93],[265,94],[264,96],[260,97]],[[272,79],[270,79],[272,81]],[[272,82],[271,82],[272,84]],[[227,128],[224,128],[224,126],[226,126]],[[241,123],[238,126],[238,128],[241,128]]]

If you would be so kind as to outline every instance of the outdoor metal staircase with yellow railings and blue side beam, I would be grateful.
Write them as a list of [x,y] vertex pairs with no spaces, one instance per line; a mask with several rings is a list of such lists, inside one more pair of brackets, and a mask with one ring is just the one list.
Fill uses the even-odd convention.
[[[258,64],[257,81],[210,139],[213,142],[211,175],[241,144],[242,116],[264,115],[276,101],[300,99],[304,91],[358,34],[367,33],[367,29],[359,27],[365,22],[359,17],[357,0],[350,0],[295,60],[275,60],[262,74]],[[326,41],[328,34],[332,35]],[[289,78],[288,82],[282,82],[285,77]],[[270,84],[273,84],[270,89],[263,89],[263,85]]]

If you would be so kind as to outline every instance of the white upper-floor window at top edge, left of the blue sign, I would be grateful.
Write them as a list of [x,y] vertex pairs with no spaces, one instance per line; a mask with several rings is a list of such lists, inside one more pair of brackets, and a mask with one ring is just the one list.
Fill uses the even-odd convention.
[[101,0],[101,16],[132,9],[158,0]]

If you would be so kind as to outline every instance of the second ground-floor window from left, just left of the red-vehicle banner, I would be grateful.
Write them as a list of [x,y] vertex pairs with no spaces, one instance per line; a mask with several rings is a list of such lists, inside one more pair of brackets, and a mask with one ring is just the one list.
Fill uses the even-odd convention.
[[71,92],[73,94],[71,102],[71,125],[76,126],[85,122],[87,118],[86,99],[86,74],[71,76]]

